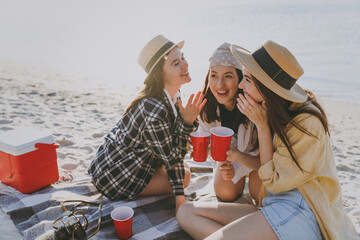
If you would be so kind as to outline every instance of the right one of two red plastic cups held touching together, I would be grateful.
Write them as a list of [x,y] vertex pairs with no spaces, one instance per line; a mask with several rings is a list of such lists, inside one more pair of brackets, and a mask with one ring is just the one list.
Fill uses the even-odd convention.
[[226,152],[230,149],[231,138],[234,131],[227,127],[213,127],[211,133],[211,157],[215,161],[226,160]]

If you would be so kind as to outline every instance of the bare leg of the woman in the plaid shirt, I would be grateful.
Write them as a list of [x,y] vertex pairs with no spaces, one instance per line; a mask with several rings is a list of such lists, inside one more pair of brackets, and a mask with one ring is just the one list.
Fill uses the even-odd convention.
[[[187,163],[185,165],[185,178],[184,178],[184,188],[187,187],[190,183],[191,172],[190,167]],[[164,165],[160,165],[156,170],[154,175],[151,177],[149,184],[146,188],[139,194],[139,196],[147,195],[159,195],[171,193],[171,187],[169,183],[169,177],[165,170]]]

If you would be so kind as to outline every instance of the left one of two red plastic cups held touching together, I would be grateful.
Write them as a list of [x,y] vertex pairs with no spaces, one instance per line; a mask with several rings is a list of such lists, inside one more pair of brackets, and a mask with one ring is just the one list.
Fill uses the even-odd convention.
[[191,145],[193,146],[193,159],[195,162],[205,162],[207,159],[210,133],[198,131],[190,133]]

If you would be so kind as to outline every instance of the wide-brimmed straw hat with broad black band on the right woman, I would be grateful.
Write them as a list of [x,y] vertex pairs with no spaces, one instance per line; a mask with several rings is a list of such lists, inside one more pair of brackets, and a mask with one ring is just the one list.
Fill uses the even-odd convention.
[[305,90],[296,84],[304,70],[285,47],[269,40],[252,53],[236,45],[231,45],[231,52],[254,77],[280,97],[299,103],[307,100]]

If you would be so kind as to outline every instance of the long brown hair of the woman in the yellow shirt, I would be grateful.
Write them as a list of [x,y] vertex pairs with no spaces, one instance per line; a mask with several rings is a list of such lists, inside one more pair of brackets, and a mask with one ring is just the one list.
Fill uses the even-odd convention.
[[309,114],[317,117],[321,121],[321,123],[325,129],[325,133],[330,134],[329,125],[328,125],[325,111],[320,106],[320,104],[317,102],[314,94],[310,91],[306,91],[309,95],[307,102],[310,102],[318,110],[314,109],[313,107],[310,107],[309,105],[306,105],[305,104],[306,102],[304,103],[304,105],[302,107],[300,107],[298,109],[290,110],[289,107],[293,102],[280,97],[279,95],[277,95],[276,93],[274,93],[273,91],[271,91],[270,89],[265,87],[253,75],[251,75],[251,76],[252,76],[252,80],[255,83],[256,88],[259,90],[260,94],[265,99],[266,106],[267,106],[267,117],[268,117],[268,122],[269,122],[269,125],[271,128],[271,133],[279,136],[281,141],[285,144],[286,148],[288,149],[293,161],[301,169],[301,171],[305,171],[299,165],[299,163],[296,159],[296,153],[294,152],[294,150],[290,144],[289,137],[286,134],[286,130],[288,129],[288,127],[293,126],[293,127],[296,127],[297,129],[299,129],[301,132],[303,132],[309,136],[315,137],[308,130],[306,130],[304,127],[302,127],[300,124],[298,124],[297,122],[294,121],[294,118],[297,115],[302,114],[302,113],[309,113]]

